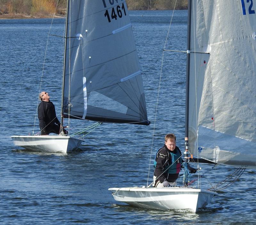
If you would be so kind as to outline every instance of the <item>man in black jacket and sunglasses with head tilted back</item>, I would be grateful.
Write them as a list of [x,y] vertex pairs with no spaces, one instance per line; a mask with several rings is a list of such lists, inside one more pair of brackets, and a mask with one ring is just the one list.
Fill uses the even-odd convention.
[[[56,117],[55,106],[50,101],[48,92],[41,92],[39,95],[41,100],[38,106],[38,119],[41,135],[47,135],[50,133],[60,134],[61,124]],[[64,134],[68,132],[63,129]]]

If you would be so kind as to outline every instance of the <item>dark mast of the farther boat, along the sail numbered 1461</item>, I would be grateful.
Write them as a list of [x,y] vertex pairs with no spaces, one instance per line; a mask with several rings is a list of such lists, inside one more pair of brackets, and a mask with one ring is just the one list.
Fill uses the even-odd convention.
[[62,73],[62,90],[61,90],[61,127],[63,131],[63,104],[64,104],[64,84],[65,84],[65,70],[66,70],[66,48],[67,48],[67,36],[68,36],[68,12],[69,12],[69,0],[67,0],[67,10],[66,10],[66,24],[65,24],[65,47],[64,47],[64,65]]

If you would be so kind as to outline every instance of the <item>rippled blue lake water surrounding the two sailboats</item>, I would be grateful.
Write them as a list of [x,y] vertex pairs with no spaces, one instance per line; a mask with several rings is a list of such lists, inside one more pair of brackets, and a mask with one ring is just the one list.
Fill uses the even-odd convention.
[[[36,153],[12,144],[11,135],[33,131],[43,65],[41,89],[49,91],[60,113],[62,39],[49,37],[44,62],[51,19],[0,20],[1,224],[254,224],[254,170],[246,170],[196,214],[131,207],[116,202],[108,191],[109,187],[147,184],[162,50],[171,13],[130,11],[152,124],[103,124],[70,154]],[[166,49],[186,50],[186,22],[187,11],[177,11]],[[63,24],[64,19],[54,19],[51,34],[62,36]],[[184,149],[185,68],[186,54],[164,54],[152,155],[169,132],[177,135],[177,145]],[[205,173],[212,166],[200,167]],[[234,170],[219,166],[206,173],[201,185],[209,188]]]

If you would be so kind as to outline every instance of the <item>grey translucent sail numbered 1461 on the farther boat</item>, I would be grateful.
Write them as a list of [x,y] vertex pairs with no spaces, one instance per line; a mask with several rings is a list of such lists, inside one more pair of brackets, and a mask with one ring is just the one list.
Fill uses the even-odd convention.
[[124,0],[69,1],[63,112],[74,119],[149,124]]

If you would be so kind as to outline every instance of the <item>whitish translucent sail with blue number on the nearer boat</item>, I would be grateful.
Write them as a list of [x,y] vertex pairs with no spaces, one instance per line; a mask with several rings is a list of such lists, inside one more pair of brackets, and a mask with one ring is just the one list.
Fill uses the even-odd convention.
[[255,12],[255,1],[192,1],[189,149],[242,168],[256,168]]

